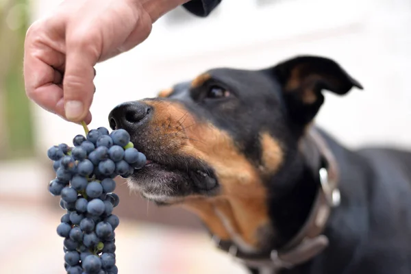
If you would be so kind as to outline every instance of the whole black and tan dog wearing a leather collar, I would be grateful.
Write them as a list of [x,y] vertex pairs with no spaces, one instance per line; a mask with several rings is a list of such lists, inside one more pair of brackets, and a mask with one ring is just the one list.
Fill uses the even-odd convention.
[[129,187],[197,213],[252,273],[410,274],[411,153],[352,151],[311,125],[325,90],[353,87],[315,56],[212,69],[117,106],[110,126],[147,155]]

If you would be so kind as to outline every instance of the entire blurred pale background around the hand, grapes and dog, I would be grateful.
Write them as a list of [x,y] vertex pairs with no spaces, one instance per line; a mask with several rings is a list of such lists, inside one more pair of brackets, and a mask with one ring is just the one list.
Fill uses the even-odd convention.
[[[62,121],[25,97],[23,44],[32,21],[55,0],[0,0],[0,273],[64,273],[64,214],[47,192],[53,179],[46,151],[71,144],[82,127]],[[90,128],[108,127],[123,101],[153,97],[162,88],[216,66],[258,69],[299,54],[339,62],[364,86],[346,97],[326,95],[316,122],[351,148],[411,149],[411,1],[223,0],[208,18],[183,8],[162,17],[151,36],[98,64]],[[116,192],[120,273],[245,273],[212,246],[199,220],[178,208],[157,208]]]

